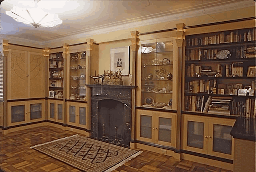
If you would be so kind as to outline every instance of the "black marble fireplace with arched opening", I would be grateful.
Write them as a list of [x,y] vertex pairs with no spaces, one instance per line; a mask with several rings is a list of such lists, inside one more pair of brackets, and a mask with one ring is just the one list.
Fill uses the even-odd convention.
[[[131,134],[130,130],[126,130],[125,128],[126,125],[129,125],[128,128],[132,127],[132,90],[136,89],[137,86],[101,84],[87,84],[86,86],[91,89],[89,100],[91,105],[91,137],[102,137],[102,120],[104,120],[104,118],[114,118],[122,121],[118,121],[118,131],[122,130],[121,133],[125,135],[122,136],[122,138],[125,139],[121,140],[126,140],[125,144],[129,146]],[[110,102],[111,104],[108,104]],[[108,114],[109,112],[110,114]],[[115,114],[118,114],[118,116],[114,117]],[[104,117],[104,115],[106,117]],[[109,120],[105,121],[105,123],[111,123],[108,121]],[[115,130],[115,126],[110,127]],[[124,132],[123,129],[126,131]],[[106,133],[106,135],[108,135],[108,133]]]

